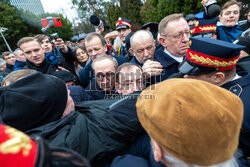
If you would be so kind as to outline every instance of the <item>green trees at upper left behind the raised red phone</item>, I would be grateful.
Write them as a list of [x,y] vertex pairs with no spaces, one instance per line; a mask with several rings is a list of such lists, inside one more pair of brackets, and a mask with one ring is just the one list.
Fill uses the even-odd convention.
[[[0,3],[0,26],[8,28],[3,34],[12,48],[14,50],[17,46],[17,42],[22,37],[35,36],[36,34],[41,34],[41,18],[46,18],[47,16],[60,17],[62,20],[62,27],[50,30],[50,32],[57,32],[59,37],[64,40],[70,40],[73,36],[72,24],[67,18],[64,18],[61,14],[42,14],[34,15],[29,11],[17,10],[13,6]],[[0,37],[0,52],[7,51],[7,46],[5,45],[2,37]]]

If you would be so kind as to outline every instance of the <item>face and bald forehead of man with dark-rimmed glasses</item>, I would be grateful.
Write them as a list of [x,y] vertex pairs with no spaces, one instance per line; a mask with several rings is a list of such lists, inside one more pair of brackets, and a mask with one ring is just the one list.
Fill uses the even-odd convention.
[[102,90],[110,91],[115,88],[114,63],[111,60],[104,59],[96,62],[93,66],[96,82]]

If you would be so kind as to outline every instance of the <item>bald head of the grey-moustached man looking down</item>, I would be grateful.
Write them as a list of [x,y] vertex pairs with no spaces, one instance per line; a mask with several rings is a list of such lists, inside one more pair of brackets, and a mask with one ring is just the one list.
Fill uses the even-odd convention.
[[139,30],[133,34],[130,39],[130,53],[143,64],[147,60],[153,60],[155,44],[154,37],[150,31]]

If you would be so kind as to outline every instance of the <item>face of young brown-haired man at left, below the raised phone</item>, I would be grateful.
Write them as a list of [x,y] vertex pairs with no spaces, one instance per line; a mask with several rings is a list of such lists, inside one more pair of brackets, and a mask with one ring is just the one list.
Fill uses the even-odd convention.
[[36,66],[40,66],[45,59],[45,52],[37,41],[23,43],[20,48],[25,57]]

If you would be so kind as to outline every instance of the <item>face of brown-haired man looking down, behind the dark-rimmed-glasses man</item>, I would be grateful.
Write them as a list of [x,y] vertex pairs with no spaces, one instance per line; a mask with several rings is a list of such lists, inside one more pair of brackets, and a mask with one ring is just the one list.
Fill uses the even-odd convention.
[[98,56],[104,55],[107,51],[106,45],[102,45],[102,41],[97,37],[85,42],[85,47],[91,60],[95,60]]

